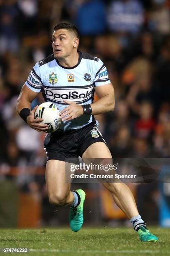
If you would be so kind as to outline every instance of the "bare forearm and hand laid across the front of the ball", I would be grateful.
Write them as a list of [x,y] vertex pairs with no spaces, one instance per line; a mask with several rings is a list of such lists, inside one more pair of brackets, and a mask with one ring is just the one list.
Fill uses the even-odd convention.
[[[114,110],[115,93],[111,83],[95,87],[95,92],[99,97],[99,100],[90,104],[92,108],[92,115],[102,114]],[[70,121],[79,117],[80,115],[83,115],[83,108],[81,105],[68,100],[63,101],[69,106],[60,112],[62,121]]]

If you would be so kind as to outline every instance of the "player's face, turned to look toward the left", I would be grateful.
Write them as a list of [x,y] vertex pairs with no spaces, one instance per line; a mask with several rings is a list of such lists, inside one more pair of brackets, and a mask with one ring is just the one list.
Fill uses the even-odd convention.
[[70,56],[72,50],[78,46],[78,38],[67,29],[58,29],[52,34],[52,49],[56,59]]

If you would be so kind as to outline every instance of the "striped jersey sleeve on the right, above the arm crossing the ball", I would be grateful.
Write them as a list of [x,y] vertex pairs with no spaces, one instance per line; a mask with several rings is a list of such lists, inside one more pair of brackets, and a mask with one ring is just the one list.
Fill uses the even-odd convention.
[[105,64],[99,59],[97,70],[95,74],[94,84],[95,86],[109,84],[110,80],[108,77],[107,68],[105,67]]

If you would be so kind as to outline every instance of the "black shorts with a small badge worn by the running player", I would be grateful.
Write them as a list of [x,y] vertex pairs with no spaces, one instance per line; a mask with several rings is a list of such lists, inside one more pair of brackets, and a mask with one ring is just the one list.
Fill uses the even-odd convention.
[[80,129],[47,133],[44,141],[47,161],[78,158],[91,144],[98,141],[106,144],[95,121]]

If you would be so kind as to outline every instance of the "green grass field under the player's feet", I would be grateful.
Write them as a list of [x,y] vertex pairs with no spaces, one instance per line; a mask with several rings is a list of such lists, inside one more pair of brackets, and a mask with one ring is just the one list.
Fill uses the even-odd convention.
[[[170,255],[170,230],[150,228],[159,242],[142,243],[132,228],[0,229],[0,255]],[[28,248],[4,253],[2,248]]]

